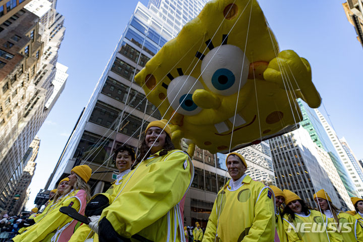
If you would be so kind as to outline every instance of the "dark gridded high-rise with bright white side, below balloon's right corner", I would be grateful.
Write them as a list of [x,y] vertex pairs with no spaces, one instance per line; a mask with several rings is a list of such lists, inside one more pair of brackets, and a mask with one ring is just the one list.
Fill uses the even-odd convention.
[[[309,206],[316,207],[313,195],[324,189],[339,209],[352,209],[347,192],[326,151],[318,147],[303,128],[270,139],[276,183],[300,196]],[[330,168],[329,168],[330,167]],[[339,185],[334,186],[340,182]],[[341,191],[338,192],[338,189]],[[344,193],[345,191],[345,193]],[[345,199],[343,199],[345,196]]]

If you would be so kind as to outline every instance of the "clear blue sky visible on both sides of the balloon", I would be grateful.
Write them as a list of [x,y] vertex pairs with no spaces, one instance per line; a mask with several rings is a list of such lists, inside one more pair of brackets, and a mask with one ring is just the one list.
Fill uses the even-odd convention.
[[[95,4],[62,0],[57,11],[66,18],[65,39],[58,62],[69,67],[66,88],[38,136],[37,167],[27,208],[53,170],[73,127],[138,1],[108,0]],[[147,5],[148,1],[141,1]],[[338,137],[345,137],[358,159],[363,158],[360,107],[363,48],[346,19],[340,1],[259,1],[277,37],[280,50],[293,49],[308,59]],[[324,108],[319,110],[327,117]]]

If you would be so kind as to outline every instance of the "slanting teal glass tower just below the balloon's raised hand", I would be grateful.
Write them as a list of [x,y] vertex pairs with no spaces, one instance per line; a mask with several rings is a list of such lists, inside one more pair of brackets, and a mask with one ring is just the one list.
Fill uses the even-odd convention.
[[328,152],[335,168],[338,171],[339,177],[342,180],[349,197],[357,196],[357,188],[355,187],[346,167],[336,152],[334,145],[325,131],[324,126],[316,113],[317,109],[313,109],[305,104],[300,99],[297,100],[301,109],[303,120],[300,122],[302,128],[306,129],[311,139],[318,147]]

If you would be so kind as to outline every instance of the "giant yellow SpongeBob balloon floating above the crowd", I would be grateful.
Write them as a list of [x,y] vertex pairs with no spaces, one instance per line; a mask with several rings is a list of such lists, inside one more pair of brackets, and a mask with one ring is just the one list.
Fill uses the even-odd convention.
[[214,0],[135,77],[172,140],[212,153],[294,129],[321,98],[305,58],[278,44],[257,1]]

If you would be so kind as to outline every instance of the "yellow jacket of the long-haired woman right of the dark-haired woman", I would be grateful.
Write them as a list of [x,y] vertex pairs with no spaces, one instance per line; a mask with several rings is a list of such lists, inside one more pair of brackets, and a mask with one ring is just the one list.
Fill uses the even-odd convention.
[[[363,228],[352,215],[340,212],[337,217],[339,219],[339,227],[341,231],[340,234],[342,235],[344,241],[363,242]],[[328,220],[333,223],[336,228],[338,228],[334,217],[328,218]]]

